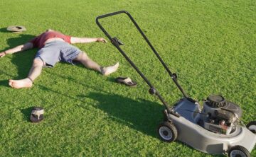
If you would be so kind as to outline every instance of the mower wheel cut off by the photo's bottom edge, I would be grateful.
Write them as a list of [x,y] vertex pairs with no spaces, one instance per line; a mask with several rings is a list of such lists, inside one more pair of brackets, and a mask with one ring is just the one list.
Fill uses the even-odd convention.
[[233,146],[228,151],[229,157],[250,157],[250,152],[243,146]]

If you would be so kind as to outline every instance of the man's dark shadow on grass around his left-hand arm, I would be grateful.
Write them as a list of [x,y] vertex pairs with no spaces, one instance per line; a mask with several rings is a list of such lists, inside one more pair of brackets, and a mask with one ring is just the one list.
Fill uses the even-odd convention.
[[[9,47],[6,47],[5,50],[9,50],[18,45],[23,45],[26,42],[29,42],[30,40],[32,40],[34,37],[36,36],[20,34],[18,35],[18,37],[9,38],[7,40],[7,44],[9,45]],[[30,70],[33,57],[35,56],[36,52],[37,52],[36,49],[32,49],[32,50],[26,50],[24,52],[11,54],[13,55],[11,59],[11,63],[13,63],[16,66],[18,71],[18,76],[12,79],[23,79],[28,75],[28,71]]]

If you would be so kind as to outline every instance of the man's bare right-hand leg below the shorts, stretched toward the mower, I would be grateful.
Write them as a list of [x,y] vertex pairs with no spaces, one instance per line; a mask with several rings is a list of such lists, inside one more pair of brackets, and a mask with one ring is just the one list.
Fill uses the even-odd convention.
[[117,64],[114,64],[113,66],[102,67],[96,62],[92,61],[92,59],[90,59],[85,52],[80,52],[78,57],[76,57],[74,60],[81,62],[88,69],[99,71],[102,75],[105,76],[112,74],[114,71],[117,71],[119,66],[119,62],[117,62]]

